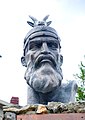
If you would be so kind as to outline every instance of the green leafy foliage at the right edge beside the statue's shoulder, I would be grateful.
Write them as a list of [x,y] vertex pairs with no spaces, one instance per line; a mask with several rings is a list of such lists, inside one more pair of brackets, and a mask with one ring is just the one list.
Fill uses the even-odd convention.
[[81,62],[79,65],[80,73],[76,74],[76,78],[79,80],[79,87],[77,90],[77,101],[85,101],[85,66]]

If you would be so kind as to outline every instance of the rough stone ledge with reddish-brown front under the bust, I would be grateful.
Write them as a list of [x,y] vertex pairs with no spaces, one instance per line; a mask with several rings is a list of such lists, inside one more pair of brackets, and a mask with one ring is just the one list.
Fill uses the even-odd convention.
[[29,104],[20,108],[11,106],[3,111],[6,116],[11,115],[10,120],[85,120],[85,102]]

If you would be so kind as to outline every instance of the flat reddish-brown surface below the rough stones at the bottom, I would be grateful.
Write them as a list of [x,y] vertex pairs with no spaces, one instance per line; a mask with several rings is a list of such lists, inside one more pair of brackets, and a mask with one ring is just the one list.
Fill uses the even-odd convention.
[[17,120],[85,120],[85,113],[18,115]]

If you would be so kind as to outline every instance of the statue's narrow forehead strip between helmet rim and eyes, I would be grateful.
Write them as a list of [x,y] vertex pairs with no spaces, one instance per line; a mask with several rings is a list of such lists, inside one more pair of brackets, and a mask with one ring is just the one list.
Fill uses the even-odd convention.
[[29,43],[35,43],[35,42],[59,43],[58,39],[53,37],[36,37],[34,39],[29,40]]

